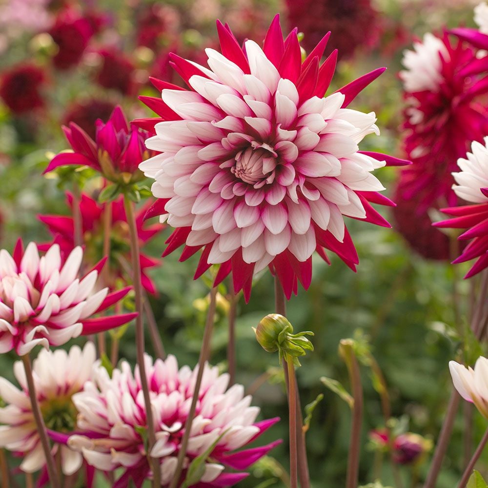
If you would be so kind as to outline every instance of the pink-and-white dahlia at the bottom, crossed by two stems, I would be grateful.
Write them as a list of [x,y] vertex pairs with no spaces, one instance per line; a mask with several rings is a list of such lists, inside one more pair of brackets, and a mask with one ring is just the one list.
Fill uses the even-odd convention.
[[[197,369],[178,369],[174,356],[165,361],[158,359],[154,364],[146,356],[145,362],[157,440],[150,454],[160,459],[162,486],[167,486],[175,473]],[[234,486],[247,474],[224,472],[226,466],[246,469],[277,444],[233,452],[254,441],[278,419],[256,422],[259,408],[250,406],[251,397],[244,397],[242,385],[227,389],[228,382],[228,374],[219,375],[216,366],[205,365],[183,477],[195,457],[213,443],[216,446],[205,460],[202,478],[192,487]],[[114,487],[127,487],[131,479],[137,487],[142,486],[151,473],[141,429],[146,416],[138,366],[133,375],[129,364],[122,362],[112,377],[103,367],[96,368],[93,380],[73,396],[73,402],[80,412],[78,429],[82,433],[71,436],[68,445],[80,450],[95,468],[124,468]]]

